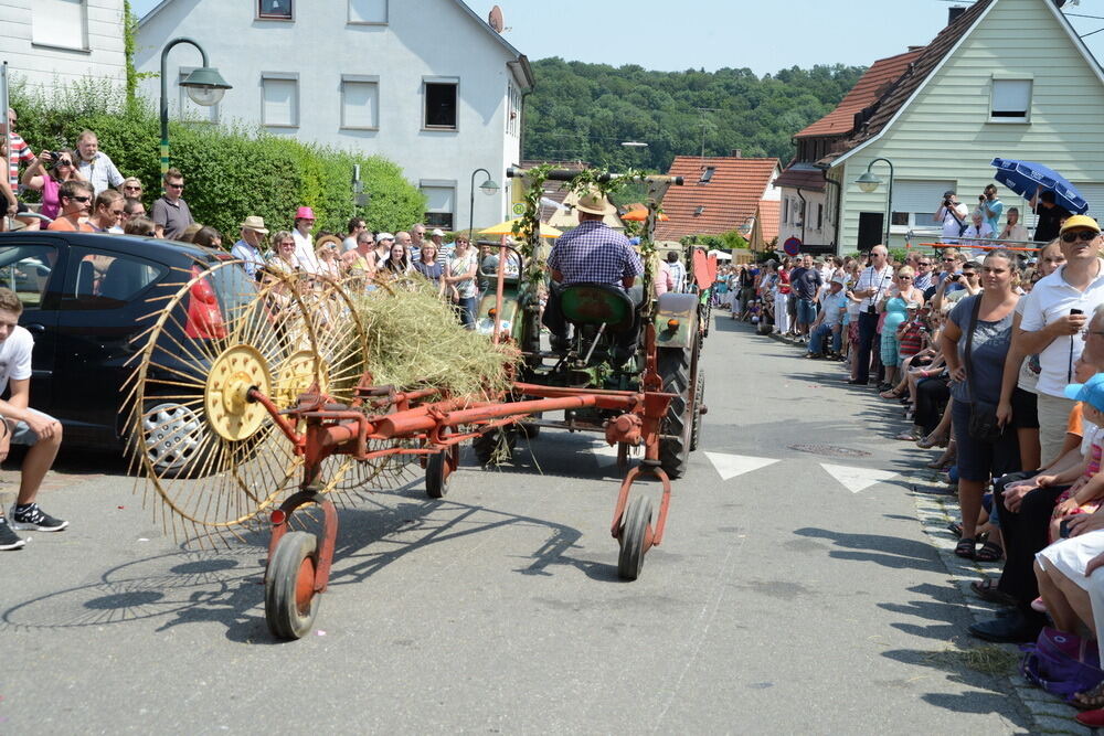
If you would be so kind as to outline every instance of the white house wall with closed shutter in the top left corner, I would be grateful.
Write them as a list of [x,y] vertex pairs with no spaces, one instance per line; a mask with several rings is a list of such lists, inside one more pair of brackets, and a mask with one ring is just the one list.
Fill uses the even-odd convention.
[[126,81],[123,0],[0,0],[0,61],[31,92]]

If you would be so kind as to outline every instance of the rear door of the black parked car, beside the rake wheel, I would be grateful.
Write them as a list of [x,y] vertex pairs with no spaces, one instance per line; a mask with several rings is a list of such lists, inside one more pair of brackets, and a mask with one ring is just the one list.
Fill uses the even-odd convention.
[[71,245],[57,313],[54,404],[66,439],[88,446],[118,441],[132,340],[156,305],[146,295],[168,267],[105,247]]

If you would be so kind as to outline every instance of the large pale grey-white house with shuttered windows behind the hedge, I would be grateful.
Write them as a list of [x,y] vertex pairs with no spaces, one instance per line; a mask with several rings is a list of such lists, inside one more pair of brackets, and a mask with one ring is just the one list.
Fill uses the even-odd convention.
[[[429,226],[506,217],[506,169],[521,158],[532,72],[461,0],[162,0],[139,22],[138,71],[159,72],[177,36],[194,39],[233,88],[195,107],[179,83],[200,55],[177,46],[167,74],[173,118],[382,156],[426,194]],[[144,82],[150,98],[159,84]],[[488,179],[478,169],[499,184],[492,195],[473,192]]]

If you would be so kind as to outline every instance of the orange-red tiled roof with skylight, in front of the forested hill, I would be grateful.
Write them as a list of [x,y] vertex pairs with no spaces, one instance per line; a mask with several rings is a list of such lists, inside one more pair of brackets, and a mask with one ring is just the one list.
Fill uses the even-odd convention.
[[[699,181],[703,167],[713,168],[707,183]],[[656,239],[720,235],[750,227],[777,168],[778,159],[677,156],[668,173],[682,177],[686,183],[667,190],[664,212],[670,221],[659,223]],[[699,207],[701,213],[696,214]]]

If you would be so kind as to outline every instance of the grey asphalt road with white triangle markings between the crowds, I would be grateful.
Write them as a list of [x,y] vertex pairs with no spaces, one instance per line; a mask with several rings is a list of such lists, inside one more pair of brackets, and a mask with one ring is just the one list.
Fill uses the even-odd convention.
[[798,354],[718,319],[702,448],[639,580],[616,576],[613,457],[545,433],[501,471],[466,456],[446,500],[343,509],[290,643],[263,537],[174,541],[121,463],[67,456],[41,501],[72,529],[0,553],[0,733],[1029,730],[1007,681],[932,661],[965,642],[960,594],[909,483],[862,481],[928,456]]

